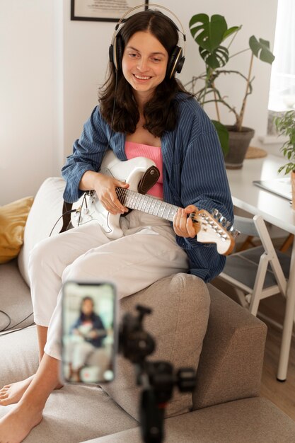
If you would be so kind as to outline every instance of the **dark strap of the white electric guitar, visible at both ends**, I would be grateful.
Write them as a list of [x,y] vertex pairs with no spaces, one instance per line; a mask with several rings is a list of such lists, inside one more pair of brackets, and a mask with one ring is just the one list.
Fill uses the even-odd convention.
[[[146,192],[148,192],[156,184],[159,177],[160,171],[158,168],[156,166],[150,166],[148,169],[146,169],[146,172],[141,177],[137,186],[137,192],[139,192],[139,194],[146,194]],[[75,212],[73,209],[71,209],[72,206],[73,203],[68,203],[64,200],[62,205],[62,229],[59,231],[59,234],[74,227],[71,224],[71,212]],[[132,211],[132,209],[129,209],[128,212],[122,214],[123,217],[129,214],[130,211]]]

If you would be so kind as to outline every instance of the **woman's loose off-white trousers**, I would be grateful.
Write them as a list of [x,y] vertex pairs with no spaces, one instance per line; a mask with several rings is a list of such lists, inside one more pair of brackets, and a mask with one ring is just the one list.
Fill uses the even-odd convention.
[[185,251],[170,222],[133,210],[120,217],[124,236],[110,240],[97,221],[37,243],[29,275],[34,320],[47,326],[45,352],[61,359],[62,284],[67,280],[112,281],[118,298],[177,272],[187,272]]

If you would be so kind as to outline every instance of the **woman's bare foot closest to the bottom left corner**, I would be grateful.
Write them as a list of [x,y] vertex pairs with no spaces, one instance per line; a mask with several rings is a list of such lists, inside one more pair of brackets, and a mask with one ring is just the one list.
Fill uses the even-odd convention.
[[42,411],[16,406],[0,420],[0,441],[21,443],[42,420]]

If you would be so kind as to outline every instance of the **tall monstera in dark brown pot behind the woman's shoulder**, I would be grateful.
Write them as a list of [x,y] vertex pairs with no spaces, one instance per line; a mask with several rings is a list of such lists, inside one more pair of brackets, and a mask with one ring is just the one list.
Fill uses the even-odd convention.
[[[254,56],[258,57],[262,62],[272,64],[274,61],[274,55],[270,52],[270,42],[262,38],[258,40],[254,35],[249,39],[249,47],[230,55],[229,48],[239,30],[241,30],[241,26],[228,28],[224,16],[214,15],[209,18],[207,14],[199,13],[192,16],[190,20],[190,32],[199,46],[199,55],[204,60],[205,71],[199,76],[193,76],[192,80],[185,86],[195,94],[202,106],[207,103],[215,104],[217,120],[212,121],[219,134],[226,166],[229,168],[241,168],[243,166],[245,152],[250,144],[250,139],[254,135],[253,129],[243,127],[245,105],[248,96],[253,92],[252,69]],[[230,40],[228,40],[229,37],[231,37]],[[229,41],[227,46],[224,45],[225,40]],[[251,52],[250,64],[246,76],[233,69],[224,69],[229,59],[249,50]],[[239,76],[245,81],[245,94],[240,110],[237,110],[236,106],[228,102],[217,86],[219,77],[227,74]],[[198,88],[201,82],[202,86]],[[224,126],[221,124],[220,105],[226,106],[233,113],[236,120],[233,125]]]

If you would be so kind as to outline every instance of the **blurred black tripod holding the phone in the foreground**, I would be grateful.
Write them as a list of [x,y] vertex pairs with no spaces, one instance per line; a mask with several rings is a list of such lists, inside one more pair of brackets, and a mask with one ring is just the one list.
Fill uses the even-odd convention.
[[180,368],[175,373],[169,362],[146,360],[155,349],[154,338],[143,328],[144,316],[151,309],[137,305],[137,316],[126,313],[119,332],[119,352],[129,359],[136,370],[137,386],[143,386],[140,399],[141,437],[145,443],[163,441],[163,419],[174,386],[180,392],[191,392],[195,387],[195,370]]

